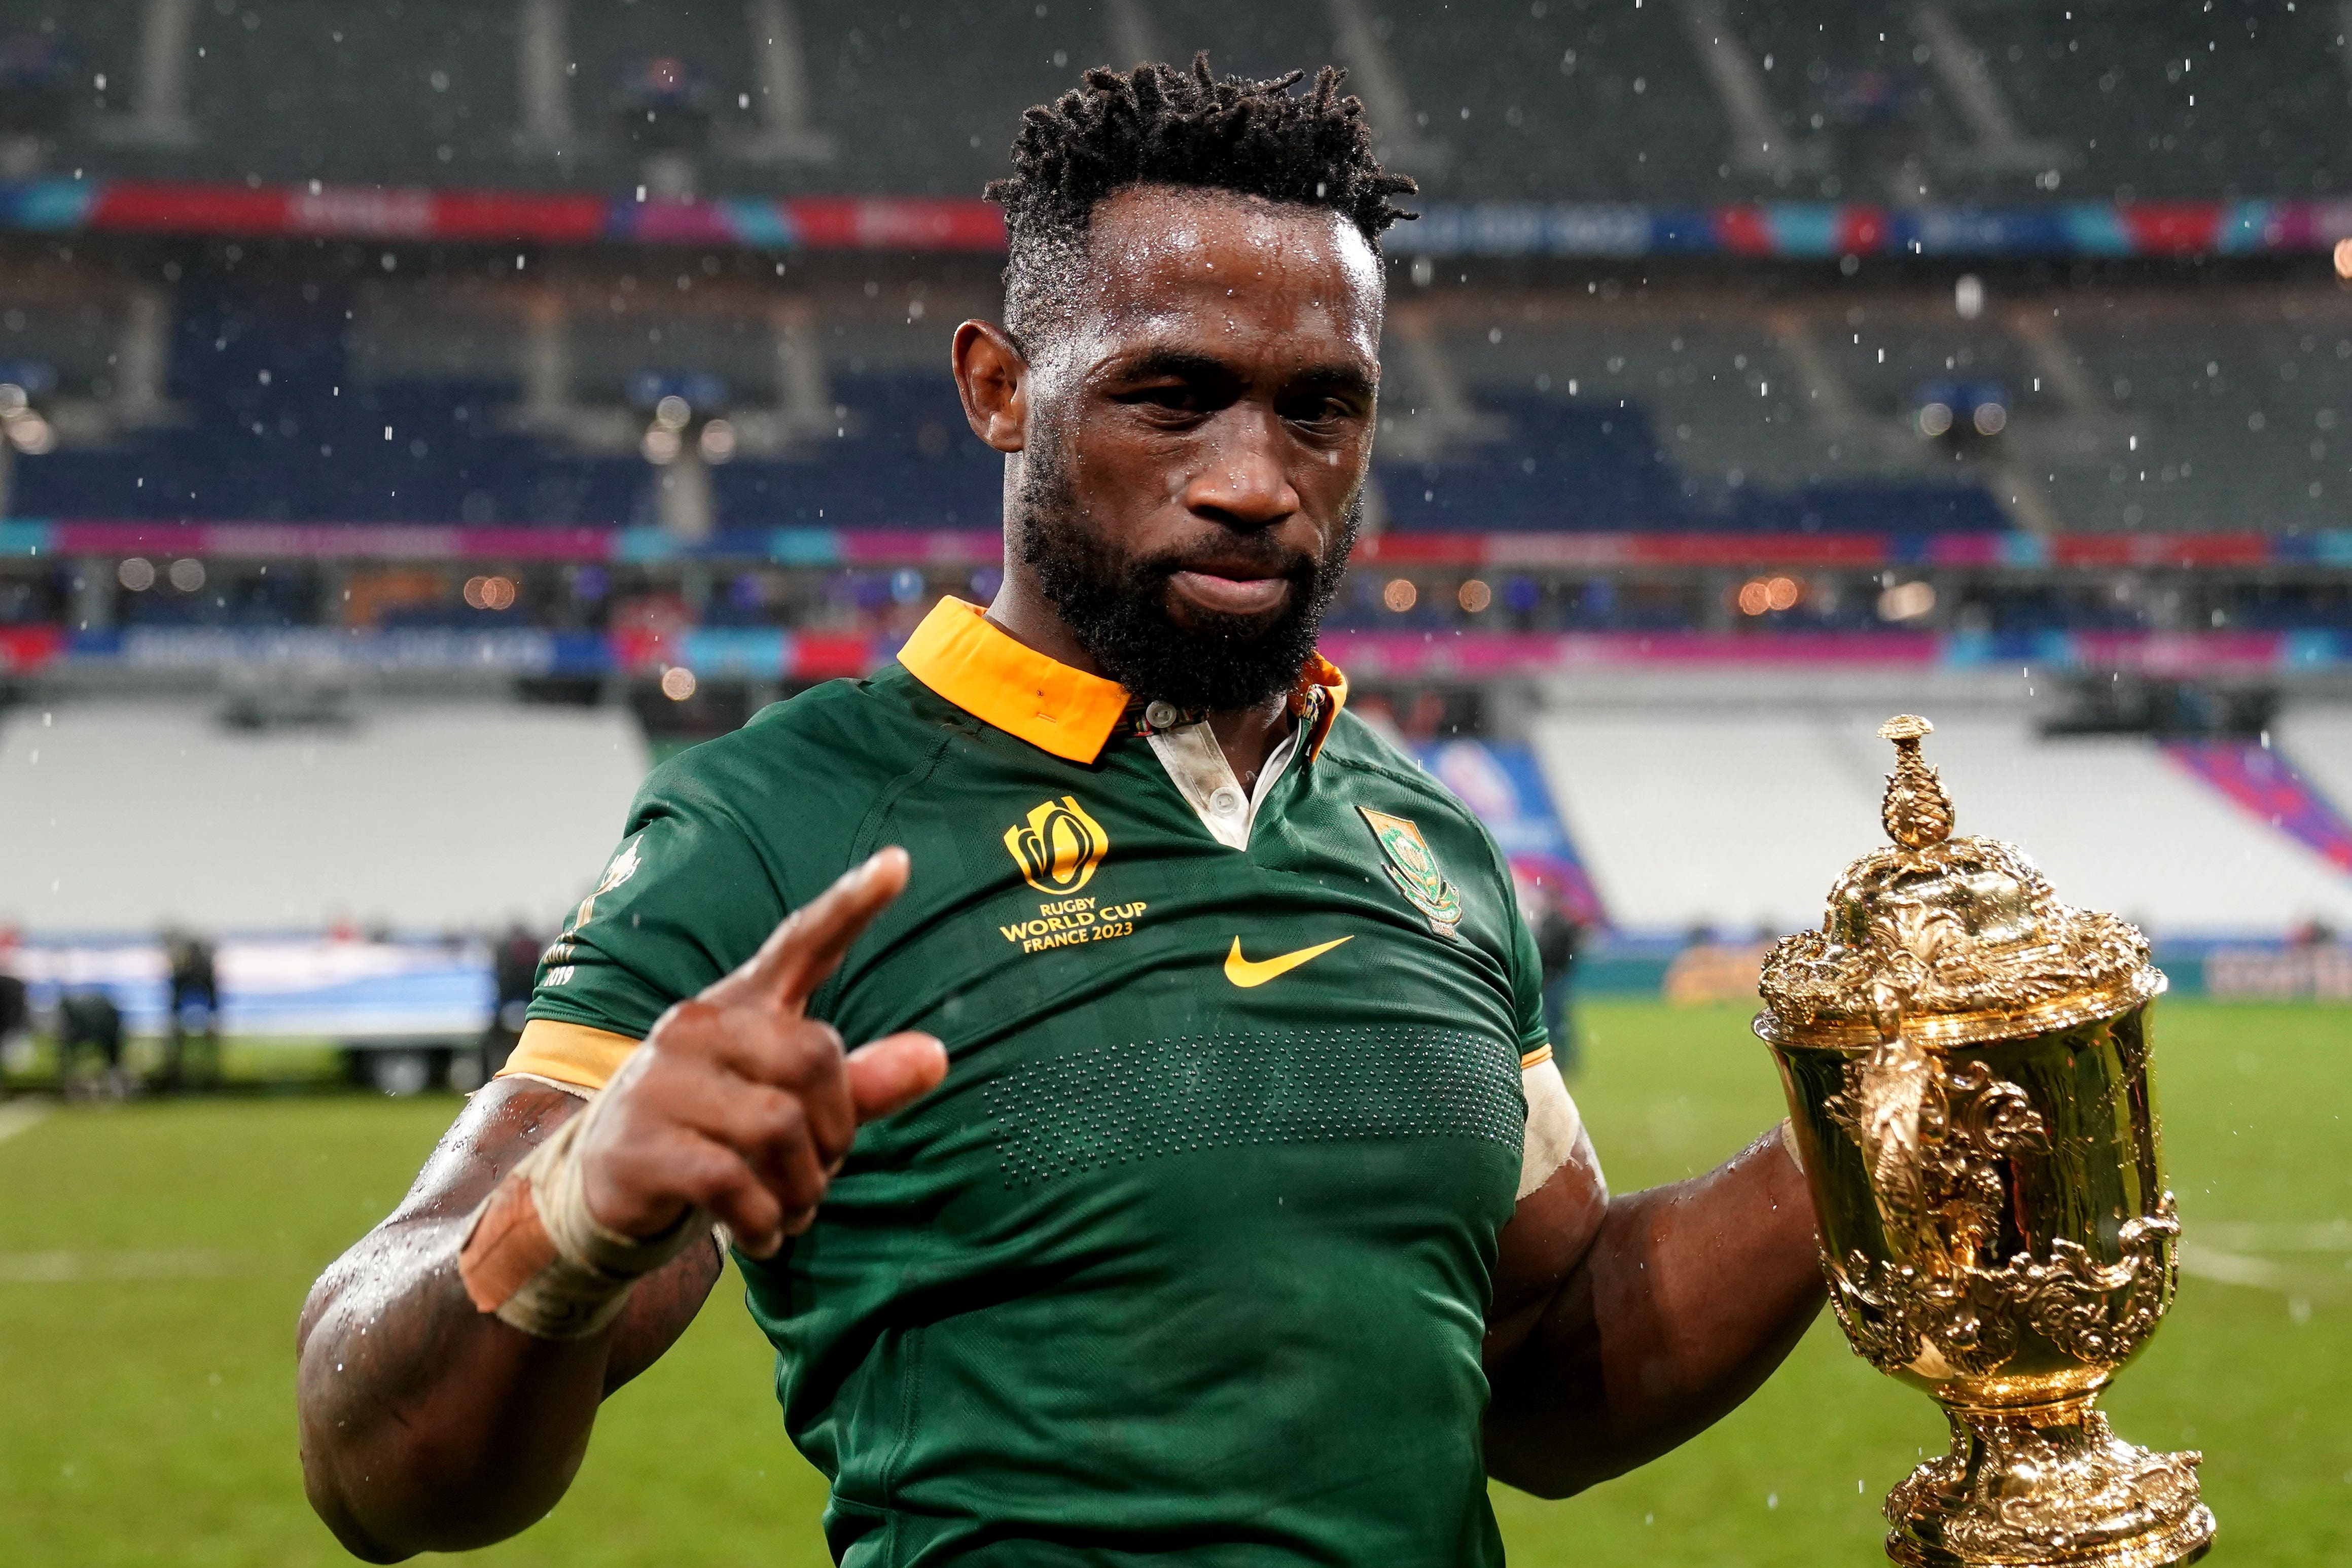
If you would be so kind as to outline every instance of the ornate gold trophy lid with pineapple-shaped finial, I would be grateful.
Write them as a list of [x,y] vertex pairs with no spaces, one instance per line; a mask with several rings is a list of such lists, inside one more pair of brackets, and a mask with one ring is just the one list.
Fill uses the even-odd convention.
[[1893,844],[1846,867],[1820,931],[1764,959],[1764,1039],[2013,1039],[2112,1018],[2164,990],[2138,926],[2058,903],[2016,844],[1952,837],[1952,799],[1919,755],[1933,729],[1910,712],[1879,729],[1896,743],[1879,806]]

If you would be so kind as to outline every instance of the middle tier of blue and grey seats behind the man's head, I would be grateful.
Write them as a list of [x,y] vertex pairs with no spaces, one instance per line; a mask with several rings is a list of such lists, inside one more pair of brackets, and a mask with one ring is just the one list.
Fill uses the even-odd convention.
[[[731,430],[713,527],[985,527],[995,463],[936,320],[993,294],[779,299],[743,270],[574,263],[560,313],[520,282],[334,268],[33,287],[0,310],[0,378],[54,381],[59,440],[19,454],[7,512],[656,524],[628,383],[691,371],[722,388],[696,418]],[[710,299],[635,303],[673,275]],[[628,322],[586,296],[630,301]],[[1414,294],[1388,357],[1392,531],[2298,534],[2336,527],[2352,473],[2352,301],[2296,284],[2211,308],[2018,287],[1980,320],[1936,284],[1766,308],[1672,284]],[[1929,430],[1933,388],[2006,397],[2004,423]]]

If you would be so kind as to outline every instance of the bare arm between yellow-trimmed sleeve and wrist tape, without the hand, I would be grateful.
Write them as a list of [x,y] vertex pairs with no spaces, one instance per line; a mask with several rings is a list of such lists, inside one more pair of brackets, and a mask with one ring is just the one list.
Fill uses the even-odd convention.
[[534,1340],[466,1300],[456,1251],[475,1204],[581,1110],[501,1079],[456,1119],[409,1197],[310,1288],[301,1458],[310,1507],[355,1556],[397,1561],[503,1540],[555,1507],[597,1401],[666,1352],[720,1276],[699,1241],[588,1340]]

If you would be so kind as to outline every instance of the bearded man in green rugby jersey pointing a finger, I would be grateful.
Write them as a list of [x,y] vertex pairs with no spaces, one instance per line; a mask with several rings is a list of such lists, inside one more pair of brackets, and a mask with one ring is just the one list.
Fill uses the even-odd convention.
[[1609,1199],[1510,872],[1312,651],[1409,190],[1336,80],[1030,110],[955,331],[1004,590],[647,783],[303,1314],[350,1549],[548,1512],[708,1215],[844,1563],[1496,1563],[1489,1474],[1639,1465],[1804,1331],[1780,1140]]

